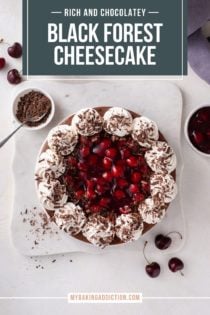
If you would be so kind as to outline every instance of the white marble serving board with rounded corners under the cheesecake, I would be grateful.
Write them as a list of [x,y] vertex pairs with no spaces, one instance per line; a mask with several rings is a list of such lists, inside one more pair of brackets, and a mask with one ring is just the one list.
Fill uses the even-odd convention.
[[[22,129],[15,137],[13,161],[15,197],[11,233],[13,244],[18,251],[30,256],[75,251],[87,253],[113,250],[138,251],[145,240],[153,244],[157,233],[174,230],[181,232],[185,239],[181,186],[183,162],[180,147],[182,96],[179,89],[173,84],[156,81],[71,81],[71,83],[26,81],[17,87],[15,94],[22,89],[35,87],[50,93],[55,101],[56,111],[53,121],[43,130]],[[179,194],[168,208],[163,221],[136,242],[108,246],[104,250],[76,240],[59,230],[53,222],[46,222],[34,182],[37,155],[49,130],[77,110],[95,106],[122,106],[150,117],[158,123],[160,131],[174,148],[178,158]],[[177,239],[166,252],[175,252],[182,245],[183,241]]]

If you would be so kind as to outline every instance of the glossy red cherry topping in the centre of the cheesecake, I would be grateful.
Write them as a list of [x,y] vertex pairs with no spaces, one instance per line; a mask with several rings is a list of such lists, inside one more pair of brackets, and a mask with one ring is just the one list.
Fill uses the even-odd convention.
[[60,177],[69,200],[87,215],[136,212],[139,203],[150,196],[152,171],[144,158],[146,150],[130,135],[117,137],[103,130],[94,136],[79,136]]

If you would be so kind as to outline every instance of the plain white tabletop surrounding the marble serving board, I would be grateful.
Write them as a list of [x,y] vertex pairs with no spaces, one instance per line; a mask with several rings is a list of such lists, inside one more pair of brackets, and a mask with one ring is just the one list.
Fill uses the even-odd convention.
[[[7,42],[22,41],[21,1],[0,0],[0,37]],[[0,55],[6,56],[6,46],[0,46]],[[7,58],[8,67],[0,72],[0,138],[13,128],[11,93],[13,86],[6,80],[11,67],[21,70],[21,62]],[[69,83],[71,84],[71,83]],[[183,93],[184,113],[200,104],[210,103],[210,88],[191,69],[183,81],[176,82]],[[100,91],[99,91],[100,93]],[[187,239],[177,253],[185,262],[185,276],[167,270],[167,256],[155,256],[164,272],[150,279],[143,272],[141,252],[116,252],[101,255],[69,254],[34,259],[22,257],[10,239],[10,219],[13,202],[11,161],[13,141],[0,152],[0,296],[66,297],[68,292],[133,292],[144,296],[202,297],[210,296],[210,168],[208,159],[193,152],[182,136],[185,162],[184,212],[187,221]],[[56,259],[55,263],[52,260]],[[70,262],[69,260],[72,260]],[[44,269],[36,269],[36,265]],[[144,284],[144,285],[142,285]],[[141,305],[70,305],[57,300],[0,300],[0,314],[209,314],[206,300],[144,300]]]

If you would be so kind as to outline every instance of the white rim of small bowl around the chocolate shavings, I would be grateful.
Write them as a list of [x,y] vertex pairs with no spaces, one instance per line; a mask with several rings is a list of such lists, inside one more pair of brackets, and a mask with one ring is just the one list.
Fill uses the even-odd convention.
[[28,94],[29,92],[31,91],[36,91],[36,92],[40,92],[42,94],[44,94],[47,98],[49,98],[50,102],[51,102],[51,112],[49,114],[49,116],[47,117],[47,120],[43,123],[41,123],[40,125],[37,125],[37,126],[28,126],[28,125],[24,125],[22,128],[25,128],[27,130],[39,130],[39,129],[42,129],[44,127],[46,127],[50,121],[52,120],[54,114],[55,114],[55,103],[54,103],[54,100],[52,99],[52,97],[44,90],[40,89],[40,88],[27,88],[27,89],[24,89],[22,91],[20,91],[18,94],[16,94],[14,96],[14,99],[13,99],[13,104],[12,104],[12,111],[13,111],[13,116],[14,116],[14,119],[16,120],[16,122],[18,122],[19,124],[21,124],[21,121],[19,121],[17,119],[17,116],[16,116],[16,112],[17,112],[17,105],[18,105],[18,102],[20,101],[20,98],[26,94]]

